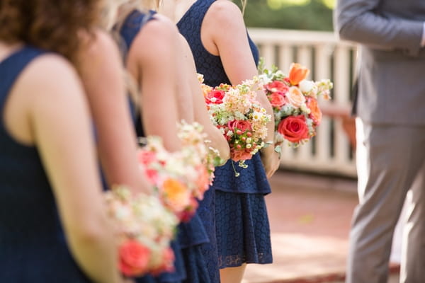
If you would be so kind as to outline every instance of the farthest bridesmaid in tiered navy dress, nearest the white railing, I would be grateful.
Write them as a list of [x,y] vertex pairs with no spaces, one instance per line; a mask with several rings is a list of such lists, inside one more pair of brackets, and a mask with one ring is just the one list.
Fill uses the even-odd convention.
[[[167,2],[167,3],[173,3]],[[259,52],[246,33],[239,8],[228,0],[183,0],[178,6],[164,6],[174,12],[181,34],[186,37],[195,57],[198,73],[205,83],[238,84],[257,73]],[[265,93],[257,97],[273,119]],[[268,140],[273,141],[274,121],[268,124]],[[271,241],[264,195],[271,192],[267,178],[277,170],[278,154],[273,146],[261,150],[246,162],[248,168],[237,168],[232,160],[216,169],[212,189],[215,190],[216,246],[205,246],[205,255],[218,255],[222,283],[241,282],[246,263],[271,263]],[[201,215],[202,216],[202,215]],[[212,258],[211,255],[211,258]],[[211,270],[212,272],[214,270]],[[217,273],[216,273],[217,274]]]

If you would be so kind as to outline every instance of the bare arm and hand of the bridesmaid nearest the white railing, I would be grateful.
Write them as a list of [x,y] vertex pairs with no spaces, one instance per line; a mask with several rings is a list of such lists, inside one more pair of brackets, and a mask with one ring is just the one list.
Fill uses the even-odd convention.
[[[203,21],[201,37],[203,42],[205,39],[207,44],[210,43],[212,52],[215,51],[220,55],[227,77],[232,84],[242,83],[258,74],[249,47],[242,12],[231,1],[219,0],[211,5]],[[271,104],[263,91],[257,91],[257,99],[271,115],[271,122],[267,125],[267,140],[273,141],[274,117]],[[271,177],[279,166],[278,154],[273,146],[268,146],[261,152],[266,174]]]

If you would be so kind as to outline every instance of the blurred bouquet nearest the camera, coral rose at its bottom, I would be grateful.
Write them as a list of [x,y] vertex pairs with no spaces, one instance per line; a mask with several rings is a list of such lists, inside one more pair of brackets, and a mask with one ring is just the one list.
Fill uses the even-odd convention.
[[127,277],[158,275],[174,270],[170,241],[176,216],[157,197],[131,195],[126,187],[105,193],[108,214],[119,233],[119,270]]

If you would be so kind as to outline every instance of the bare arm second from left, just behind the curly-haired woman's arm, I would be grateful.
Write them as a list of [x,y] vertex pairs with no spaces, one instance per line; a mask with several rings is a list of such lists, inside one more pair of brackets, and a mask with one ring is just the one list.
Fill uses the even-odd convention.
[[128,185],[133,192],[151,192],[137,163],[124,69],[115,42],[101,31],[79,57],[81,79],[90,103],[98,151],[109,185]]

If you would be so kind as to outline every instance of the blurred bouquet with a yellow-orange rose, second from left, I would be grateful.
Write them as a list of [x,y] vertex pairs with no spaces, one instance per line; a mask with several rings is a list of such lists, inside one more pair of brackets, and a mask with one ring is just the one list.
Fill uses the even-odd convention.
[[220,162],[218,152],[206,145],[202,130],[198,123],[182,122],[181,151],[166,151],[159,137],[147,137],[147,145],[138,153],[140,166],[159,199],[180,221],[189,221],[195,214],[198,200],[212,183],[216,162]]

